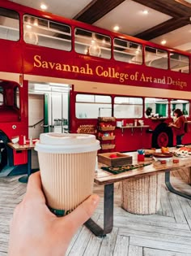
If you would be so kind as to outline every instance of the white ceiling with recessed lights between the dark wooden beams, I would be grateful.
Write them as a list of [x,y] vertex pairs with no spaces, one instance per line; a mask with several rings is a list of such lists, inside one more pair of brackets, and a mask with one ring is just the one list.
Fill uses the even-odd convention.
[[[40,9],[41,1],[34,0],[11,0],[28,7]],[[95,0],[93,0],[95,1]],[[74,18],[75,15],[82,11],[84,7],[92,2],[91,0],[43,0],[48,6],[49,12],[57,15],[62,15],[67,18]],[[188,7],[189,8],[189,7]],[[147,10],[148,14],[144,15],[142,11]],[[190,9],[191,17],[191,9]],[[132,0],[125,0],[119,6],[114,8],[108,14],[104,15],[100,20],[97,20],[94,25],[100,28],[112,30],[114,25],[120,27],[119,32],[134,36],[142,33],[149,28],[153,28],[158,24],[171,19],[172,16],[163,14],[134,2]],[[156,37],[151,41],[160,44],[165,39],[166,46],[178,48],[180,50],[189,50],[191,52],[191,24],[182,28],[178,28],[170,33],[163,34],[163,36]]]

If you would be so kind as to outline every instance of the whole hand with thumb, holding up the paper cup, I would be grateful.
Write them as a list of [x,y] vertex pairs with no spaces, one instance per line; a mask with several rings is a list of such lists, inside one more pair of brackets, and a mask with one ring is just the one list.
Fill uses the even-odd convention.
[[27,193],[16,206],[11,220],[9,256],[65,255],[71,238],[96,210],[100,198],[94,194],[69,215],[57,217],[45,205],[40,171],[32,174]]

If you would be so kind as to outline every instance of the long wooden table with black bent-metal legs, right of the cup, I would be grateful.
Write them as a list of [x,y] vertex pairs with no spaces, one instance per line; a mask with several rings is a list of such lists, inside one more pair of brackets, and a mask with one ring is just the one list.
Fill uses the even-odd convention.
[[[133,163],[137,163],[137,153],[128,153],[133,156]],[[170,182],[170,171],[176,170],[177,168],[189,167],[189,184],[191,176],[191,156],[188,158],[179,158],[179,163],[172,163],[172,160],[166,164],[152,161],[151,165],[141,167],[131,171],[125,171],[121,174],[113,175],[108,171],[103,171],[100,168],[97,170],[95,176],[95,183],[104,184],[104,228],[95,223],[92,219],[88,219],[85,223],[87,228],[91,230],[96,236],[106,236],[109,232],[112,232],[113,227],[113,184],[115,182],[124,181],[128,179],[141,178],[144,176],[154,176],[159,173],[165,172],[165,184],[169,191],[176,193],[181,197],[191,199],[191,195],[181,193],[172,187]]]

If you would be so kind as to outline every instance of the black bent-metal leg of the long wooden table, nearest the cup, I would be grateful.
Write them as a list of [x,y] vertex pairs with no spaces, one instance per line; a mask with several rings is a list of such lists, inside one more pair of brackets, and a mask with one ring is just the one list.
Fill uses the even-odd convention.
[[106,236],[112,232],[113,227],[113,184],[104,185],[104,228],[94,222],[93,219],[88,219],[85,223],[86,227],[91,230],[96,236]]

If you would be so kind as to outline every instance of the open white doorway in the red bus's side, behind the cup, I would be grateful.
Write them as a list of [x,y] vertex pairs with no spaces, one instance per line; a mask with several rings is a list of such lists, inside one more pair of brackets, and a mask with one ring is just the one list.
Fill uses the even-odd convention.
[[29,123],[34,123],[29,127],[36,130],[36,137],[42,132],[68,132],[70,86],[33,83],[29,92]]

